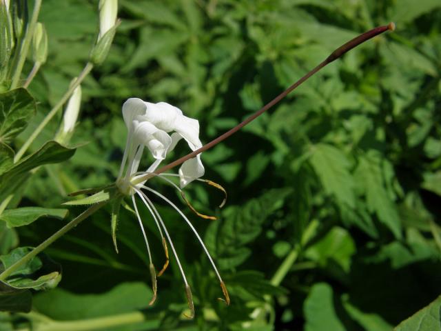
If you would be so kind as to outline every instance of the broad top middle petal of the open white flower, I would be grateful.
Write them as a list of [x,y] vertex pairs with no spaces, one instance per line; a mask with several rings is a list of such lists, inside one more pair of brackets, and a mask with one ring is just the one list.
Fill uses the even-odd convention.
[[170,132],[174,130],[175,122],[182,116],[182,111],[165,102],[145,102],[146,110],[143,115],[144,121],[149,121],[158,129]]

